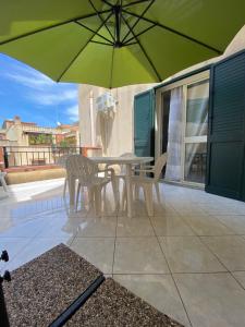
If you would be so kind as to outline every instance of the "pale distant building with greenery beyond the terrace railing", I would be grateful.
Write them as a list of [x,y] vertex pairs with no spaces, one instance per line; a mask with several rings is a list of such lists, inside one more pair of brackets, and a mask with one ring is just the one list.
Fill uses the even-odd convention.
[[[60,148],[79,147],[78,122],[56,128],[23,122],[19,116],[4,120],[0,129],[0,166],[29,166],[56,162]],[[3,165],[5,164],[5,165]]]

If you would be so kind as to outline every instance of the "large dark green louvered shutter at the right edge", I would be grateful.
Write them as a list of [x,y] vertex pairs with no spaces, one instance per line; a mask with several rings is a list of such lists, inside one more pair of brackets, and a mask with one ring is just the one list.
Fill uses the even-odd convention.
[[213,65],[206,191],[245,199],[245,53]]

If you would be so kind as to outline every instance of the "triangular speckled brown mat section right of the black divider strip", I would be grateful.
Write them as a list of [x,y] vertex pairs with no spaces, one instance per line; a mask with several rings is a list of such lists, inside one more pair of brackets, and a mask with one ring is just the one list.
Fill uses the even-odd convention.
[[106,279],[65,326],[183,327],[112,278]]

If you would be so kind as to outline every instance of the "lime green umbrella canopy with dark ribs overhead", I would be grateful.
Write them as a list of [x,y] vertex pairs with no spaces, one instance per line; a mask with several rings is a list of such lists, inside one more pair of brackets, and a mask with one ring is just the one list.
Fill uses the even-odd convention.
[[57,82],[160,82],[223,52],[244,0],[0,0],[0,52]]

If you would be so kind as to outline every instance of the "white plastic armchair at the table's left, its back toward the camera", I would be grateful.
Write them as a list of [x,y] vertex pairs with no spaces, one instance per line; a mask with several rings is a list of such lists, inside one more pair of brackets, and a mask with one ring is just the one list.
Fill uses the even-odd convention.
[[[110,172],[110,174],[107,174],[107,177],[99,177],[99,172]],[[91,203],[95,198],[96,214],[100,215],[101,190],[105,185],[107,185],[110,182],[112,183],[115,204],[118,203],[114,170],[112,168],[99,170],[98,165],[96,165],[93,160],[88,159],[87,157],[84,157],[82,155],[72,155],[69,156],[66,160],[66,174],[69,184],[75,183],[75,180],[78,180],[75,202],[76,209],[78,205],[81,187],[87,187],[89,194],[89,202]]]

